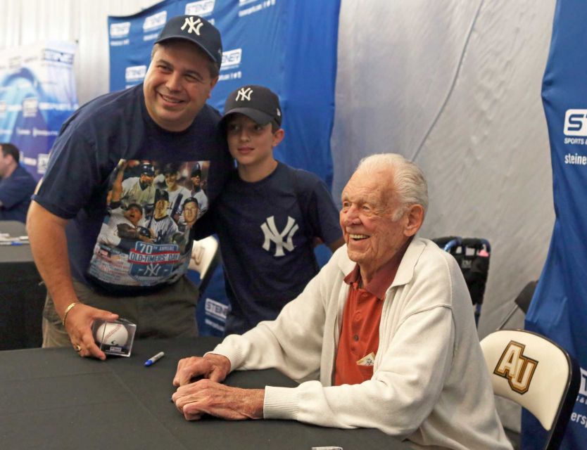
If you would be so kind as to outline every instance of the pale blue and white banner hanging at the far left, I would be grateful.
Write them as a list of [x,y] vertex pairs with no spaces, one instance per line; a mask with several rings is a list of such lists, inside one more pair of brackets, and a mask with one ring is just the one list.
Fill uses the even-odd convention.
[[75,45],[34,44],[0,51],[0,142],[20,150],[34,179],[45,173],[61,124],[77,108]]

